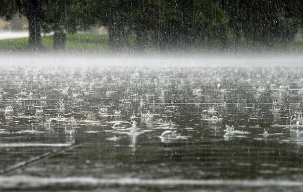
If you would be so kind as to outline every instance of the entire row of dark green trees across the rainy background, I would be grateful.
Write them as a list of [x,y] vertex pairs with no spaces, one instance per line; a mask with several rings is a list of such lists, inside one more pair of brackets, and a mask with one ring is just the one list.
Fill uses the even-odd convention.
[[[113,51],[263,47],[289,43],[301,31],[301,0],[10,0],[0,16],[29,20],[29,46],[39,49],[41,31],[65,32],[106,26]],[[64,38],[63,38],[64,39]]]

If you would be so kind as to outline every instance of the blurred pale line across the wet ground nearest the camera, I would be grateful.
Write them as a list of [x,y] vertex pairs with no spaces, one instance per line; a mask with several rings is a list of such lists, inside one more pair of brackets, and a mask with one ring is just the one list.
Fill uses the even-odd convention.
[[[233,186],[233,187],[303,187],[303,182],[291,180],[240,180],[240,179],[140,179],[140,178],[92,178],[92,177],[33,177],[27,175],[0,176],[2,188],[43,188],[47,186],[62,186],[77,188],[79,186]],[[0,187],[0,188],[1,188]]]

